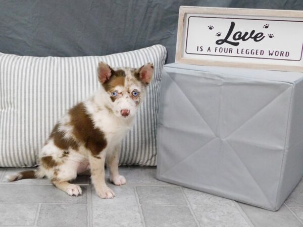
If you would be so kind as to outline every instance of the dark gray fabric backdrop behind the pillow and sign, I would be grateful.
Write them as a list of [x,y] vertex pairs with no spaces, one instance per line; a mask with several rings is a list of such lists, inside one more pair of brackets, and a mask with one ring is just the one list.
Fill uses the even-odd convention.
[[171,63],[179,6],[303,10],[303,0],[0,0],[0,52],[106,55],[162,44]]

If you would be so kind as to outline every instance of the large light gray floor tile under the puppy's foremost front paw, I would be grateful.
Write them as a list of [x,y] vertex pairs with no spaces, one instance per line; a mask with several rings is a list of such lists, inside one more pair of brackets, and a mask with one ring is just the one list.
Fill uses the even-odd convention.
[[143,226],[134,188],[109,186],[116,194],[114,199],[102,199],[92,190],[93,226]]

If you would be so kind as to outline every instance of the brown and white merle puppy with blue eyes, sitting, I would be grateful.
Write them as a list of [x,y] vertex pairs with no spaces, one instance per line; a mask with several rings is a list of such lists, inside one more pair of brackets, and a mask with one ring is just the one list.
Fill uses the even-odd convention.
[[118,172],[120,144],[133,124],[153,73],[151,63],[139,69],[112,69],[100,62],[97,76],[101,89],[69,109],[56,124],[40,151],[37,171],[24,171],[7,179],[46,176],[62,191],[78,196],[81,188],[69,181],[90,169],[97,195],[113,198],[115,193],[105,183],[105,162],[110,169],[110,181],[125,184]]

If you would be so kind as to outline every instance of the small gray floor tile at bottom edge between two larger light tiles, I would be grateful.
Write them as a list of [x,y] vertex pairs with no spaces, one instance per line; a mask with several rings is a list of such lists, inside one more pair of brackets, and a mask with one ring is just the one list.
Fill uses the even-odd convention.
[[197,226],[186,206],[149,206],[142,205],[146,227],[183,227]]

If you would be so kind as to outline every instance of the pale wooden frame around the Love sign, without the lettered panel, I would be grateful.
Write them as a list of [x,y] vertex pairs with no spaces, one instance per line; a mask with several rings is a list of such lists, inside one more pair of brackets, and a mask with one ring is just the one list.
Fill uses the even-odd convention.
[[[281,64],[268,64],[266,60],[262,60],[262,64],[256,62],[249,62],[250,60],[243,58],[237,58],[234,62],[219,60],[208,60],[204,59],[189,58],[184,56],[184,43],[186,37],[186,15],[196,14],[197,16],[203,15],[224,15],[226,18],[232,16],[247,16],[247,17],[273,17],[273,18],[285,18],[295,19],[297,22],[303,22],[303,11],[286,11],[286,10],[261,10],[261,9],[237,9],[237,8],[209,8],[209,7],[186,7],[181,6],[179,9],[179,21],[178,21],[178,35],[176,45],[176,63],[192,64],[192,65],[206,65],[206,66],[222,66],[222,67],[239,67],[239,68],[252,68],[252,69],[267,69],[276,71],[290,71],[290,72],[303,72],[303,59],[298,63],[292,62],[292,65],[281,65]],[[303,23],[302,23],[303,24]],[[188,34],[187,34],[188,35]],[[302,37],[302,48],[303,48],[303,37]],[[185,50],[186,51],[186,50]],[[303,49],[302,49],[303,52]],[[186,52],[187,53],[187,52]],[[273,60],[273,59],[272,59]],[[286,62],[286,61],[285,61]],[[290,61],[289,61],[290,62]],[[287,64],[287,63],[286,63]],[[294,65],[297,64],[297,65]]]

